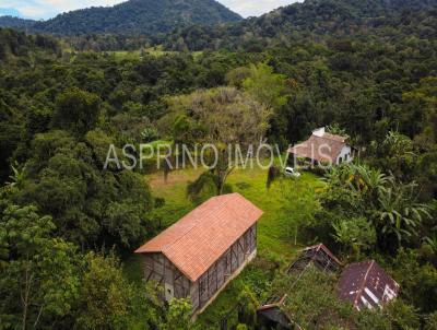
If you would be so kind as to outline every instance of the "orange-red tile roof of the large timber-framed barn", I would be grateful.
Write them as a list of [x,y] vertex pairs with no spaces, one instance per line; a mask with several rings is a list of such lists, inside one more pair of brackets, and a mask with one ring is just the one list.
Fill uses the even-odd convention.
[[196,282],[261,215],[239,193],[213,197],[135,254],[162,252]]

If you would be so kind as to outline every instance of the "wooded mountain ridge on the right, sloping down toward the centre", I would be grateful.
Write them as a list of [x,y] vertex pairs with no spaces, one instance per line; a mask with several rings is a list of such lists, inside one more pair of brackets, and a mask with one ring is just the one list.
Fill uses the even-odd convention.
[[[263,49],[272,42],[290,42],[294,34],[316,37],[356,33],[399,20],[402,15],[437,9],[437,0],[306,0],[281,7],[231,26],[189,26],[160,40],[169,50]],[[245,46],[247,45],[247,46]]]

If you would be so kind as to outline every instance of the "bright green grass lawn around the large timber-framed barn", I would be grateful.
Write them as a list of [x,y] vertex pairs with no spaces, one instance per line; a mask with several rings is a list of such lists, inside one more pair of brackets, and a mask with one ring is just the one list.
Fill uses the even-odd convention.
[[[155,197],[164,198],[162,209],[163,225],[169,226],[187,214],[196,205],[187,199],[187,182],[194,180],[202,169],[184,169],[172,173],[165,184],[163,174],[146,176]],[[235,169],[227,182],[235,192],[239,192],[264,211],[258,225],[258,258],[235,279],[218,298],[201,315],[197,322],[202,329],[215,329],[222,316],[237,303],[243,291],[249,291],[256,299],[262,299],[274,272],[288,263],[298,250],[295,244],[295,223],[305,220],[309,209],[314,208],[317,189],[322,187],[320,179],[304,173],[298,179],[282,179],[265,187],[267,170],[261,168]],[[309,202],[308,202],[309,201]],[[138,259],[126,264],[127,272],[138,274]],[[140,275],[129,274],[135,279]]]

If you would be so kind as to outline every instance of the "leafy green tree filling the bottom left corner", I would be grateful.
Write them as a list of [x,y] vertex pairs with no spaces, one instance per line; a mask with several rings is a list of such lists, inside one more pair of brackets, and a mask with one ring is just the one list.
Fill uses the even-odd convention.
[[[5,328],[39,328],[71,314],[81,259],[72,244],[50,237],[55,225],[35,207],[10,205],[0,220],[0,318]],[[51,321],[50,321],[51,320]]]

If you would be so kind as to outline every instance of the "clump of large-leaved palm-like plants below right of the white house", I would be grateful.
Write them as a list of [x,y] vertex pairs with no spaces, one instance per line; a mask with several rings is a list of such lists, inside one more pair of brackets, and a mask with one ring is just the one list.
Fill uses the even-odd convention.
[[[404,185],[379,169],[343,164],[331,168],[326,181],[327,196],[333,197],[334,204],[343,198],[350,208],[361,205],[362,211],[373,219],[382,238],[394,235],[399,243],[417,234],[416,229],[424,219],[430,217],[429,207],[416,201],[416,184]],[[335,227],[339,233],[344,233],[343,229]]]

